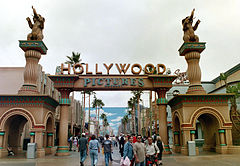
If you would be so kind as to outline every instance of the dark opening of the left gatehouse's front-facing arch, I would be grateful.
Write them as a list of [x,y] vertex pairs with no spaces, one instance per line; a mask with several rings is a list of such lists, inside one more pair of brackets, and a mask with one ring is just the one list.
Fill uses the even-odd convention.
[[28,119],[22,115],[13,115],[5,123],[4,147],[10,147],[15,155],[24,155],[30,142]]

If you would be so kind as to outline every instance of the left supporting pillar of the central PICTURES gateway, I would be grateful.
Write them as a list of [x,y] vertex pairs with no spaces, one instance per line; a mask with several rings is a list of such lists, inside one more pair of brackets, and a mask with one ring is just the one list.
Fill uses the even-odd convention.
[[61,93],[60,100],[60,124],[59,124],[59,146],[57,148],[57,156],[68,156],[68,111],[70,106],[69,94],[70,89],[59,89]]

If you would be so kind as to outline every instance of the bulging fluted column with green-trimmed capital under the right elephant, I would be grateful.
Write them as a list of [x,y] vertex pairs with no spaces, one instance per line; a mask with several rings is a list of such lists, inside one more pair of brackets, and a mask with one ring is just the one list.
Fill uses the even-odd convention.
[[206,43],[183,43],[178,50],[185,56],[188,63],[187,76],[190,82],[187,94],[206,94],[201,85],[201,69],[199,66],[200,53],[205,49]]

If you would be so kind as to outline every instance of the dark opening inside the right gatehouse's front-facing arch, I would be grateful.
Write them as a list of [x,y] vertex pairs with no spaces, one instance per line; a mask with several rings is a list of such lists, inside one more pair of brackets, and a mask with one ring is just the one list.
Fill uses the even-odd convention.
[[219,145],[219,122],[217,118],[209,113],[202,114],[196,121],[195,141],[199,152],[216,152]]

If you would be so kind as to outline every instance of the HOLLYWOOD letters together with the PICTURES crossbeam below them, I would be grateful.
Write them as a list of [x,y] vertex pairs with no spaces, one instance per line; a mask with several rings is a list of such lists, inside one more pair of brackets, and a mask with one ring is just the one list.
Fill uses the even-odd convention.
[[[89,71],[88,64],[61,64],[59,75],[49,76],[56,88],[73,90],[154,90],[160,87],[172,87],[176,76],[164,75],[164,64],[118,64],[103,63],[104,70],[99,71],[95,64],[95,72]],[[119,74],[110,74],[115,67]],[[150,70],[149,70],[150,69]],[[131,74],[127,74],[131,72]]]

